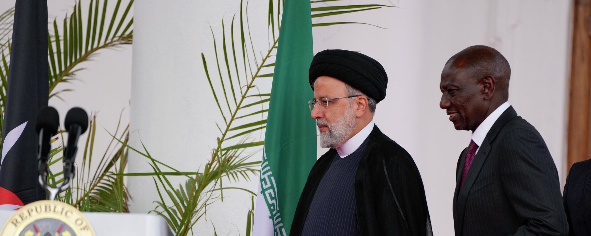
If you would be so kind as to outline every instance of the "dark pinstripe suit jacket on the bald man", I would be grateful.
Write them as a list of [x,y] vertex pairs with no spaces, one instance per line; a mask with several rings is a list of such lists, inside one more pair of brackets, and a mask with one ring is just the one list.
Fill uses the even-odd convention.
[[460,188],[457,162],[456,236],[567,235],[554,160],[535,128],[509,107],[486,134]]

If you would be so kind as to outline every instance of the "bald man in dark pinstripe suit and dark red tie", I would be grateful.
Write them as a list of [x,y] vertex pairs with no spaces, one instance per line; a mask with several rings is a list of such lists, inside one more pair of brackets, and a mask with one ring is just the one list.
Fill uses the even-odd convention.
[[456,235],[567,235],[556,165],[509,105],[510,76],[505,57],[482,45],[453,55],[441,73],[439,106],[457,130],[472,131],[456,168]]

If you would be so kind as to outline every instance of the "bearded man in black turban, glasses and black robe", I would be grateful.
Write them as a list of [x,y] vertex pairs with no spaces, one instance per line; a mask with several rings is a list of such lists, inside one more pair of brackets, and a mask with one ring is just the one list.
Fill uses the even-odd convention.
[[311,117],[330,148],[310,171],[291,236],[433,235],[413,158],[372,121],[388,78],[378,61],[325,50],[309,72]]

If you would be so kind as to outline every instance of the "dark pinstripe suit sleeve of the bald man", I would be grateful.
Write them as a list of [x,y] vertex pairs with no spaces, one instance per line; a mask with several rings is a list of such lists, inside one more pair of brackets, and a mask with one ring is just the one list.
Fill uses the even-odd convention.
[[524,222],[514,235],[567,235],[558,172],[544,140],[529,129],[509,130],[498,139],[501,185]]

